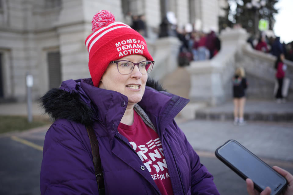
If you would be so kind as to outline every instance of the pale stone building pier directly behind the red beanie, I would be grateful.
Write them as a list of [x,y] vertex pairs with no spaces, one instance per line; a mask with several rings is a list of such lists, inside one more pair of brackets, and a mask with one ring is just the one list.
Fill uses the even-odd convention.
[[92,17],[107,9],[121,21],[121,1],[63,0],[62,11],[56,27],[60,41],[62,80],[90,77],[89,54],[85,39],[92,33]]

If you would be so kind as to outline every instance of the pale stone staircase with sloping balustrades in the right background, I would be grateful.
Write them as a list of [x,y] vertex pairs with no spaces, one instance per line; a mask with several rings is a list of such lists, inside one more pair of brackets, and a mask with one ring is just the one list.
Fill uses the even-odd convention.
[[[179,117],[233,120],[231,78],[236,67],[242,66],[249,83],[244,118],[255,121],[293,121],[293,85],[289,86],[288,102],[274,102],[276,58],[250,48],[246,42],[247,36],[244,29],[222,31],[222,48],[213,59],[193,61],[190,66],[177,67],[171,72],[168,72],[171,69],[167,67],[156,71],[162,74],[160,81],[170,93],[191,100],[179,113]],[[292,82],[293,62],[285,63],[288,65],[286,77]]]

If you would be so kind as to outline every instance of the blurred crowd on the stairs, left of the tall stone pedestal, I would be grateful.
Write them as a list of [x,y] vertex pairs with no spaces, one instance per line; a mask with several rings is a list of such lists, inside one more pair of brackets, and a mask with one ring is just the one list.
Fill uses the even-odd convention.
[[202,31],[186,32],[185,29],[176,29],[177,37],[181,41],[179,52],[179,65],[189,65],[191,60],[212,59],[220,50],[221,42],[215,31],[209,33]]

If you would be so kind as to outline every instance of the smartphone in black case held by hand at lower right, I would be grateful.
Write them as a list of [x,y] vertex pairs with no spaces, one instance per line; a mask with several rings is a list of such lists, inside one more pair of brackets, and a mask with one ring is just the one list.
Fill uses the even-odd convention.
[[271,195],[277,195],[288,185],[283,176],[235,140],[226,141],[215,155],[244,180],[250,178],[259,192],[269,186]]

